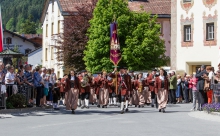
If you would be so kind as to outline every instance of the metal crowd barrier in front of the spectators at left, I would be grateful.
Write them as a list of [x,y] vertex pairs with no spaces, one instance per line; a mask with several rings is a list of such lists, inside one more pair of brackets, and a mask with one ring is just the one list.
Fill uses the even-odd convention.
[[[5,87],[4,87],[5,86]],[[16,84],[6,84],[0,83],[0,109],[6,109],[6,99],[13,94],[22,94],[25,96],[26,103],[29,103],[30,99],[35,98],[36,93],[34,87],[30,85],[16,85]]]

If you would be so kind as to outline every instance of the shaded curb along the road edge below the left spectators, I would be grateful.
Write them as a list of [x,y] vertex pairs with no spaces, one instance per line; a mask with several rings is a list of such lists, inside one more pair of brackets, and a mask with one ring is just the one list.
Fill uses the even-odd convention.
[[32,108],[23,108],[23,109],[2,109],[0,114],[13,114],[13,113],[25,113],[25,112],[34,112],[34,111],[46,111],[48,109],[53,109],[51,107],[41,108],[41,107],[32,107]]

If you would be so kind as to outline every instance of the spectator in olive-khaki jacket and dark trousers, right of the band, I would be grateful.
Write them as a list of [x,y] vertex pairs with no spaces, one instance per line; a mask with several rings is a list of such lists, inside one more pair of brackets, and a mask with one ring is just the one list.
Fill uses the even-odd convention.
[[177,77],[175,75],[175,72],[171,72],[171,77],[169,77],[170,82],[170,102],[172,104],[176,104],[176,88],[177,88]]

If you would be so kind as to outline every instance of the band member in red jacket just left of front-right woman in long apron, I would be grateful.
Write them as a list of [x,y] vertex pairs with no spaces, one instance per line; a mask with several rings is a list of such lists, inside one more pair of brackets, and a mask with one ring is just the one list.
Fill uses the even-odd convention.
[[154,88],[154,82],[156,78],[156,69],[152,70],[152,73],[147,77],[147,82],[149,84],[149,89],[151,91],[151,107],[154,107],[154,103],[156,104],[157,108],[157,97],[155,95],[155,88]]

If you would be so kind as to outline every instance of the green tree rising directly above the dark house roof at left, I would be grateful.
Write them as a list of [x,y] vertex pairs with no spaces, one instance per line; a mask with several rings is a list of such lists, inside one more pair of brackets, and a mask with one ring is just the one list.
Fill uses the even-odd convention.
[[36,34],[36,23],[33,21],[33,16],[29,15],[28,19],[25,20],[24,23],[21,24],[20,33],[23,34]]

